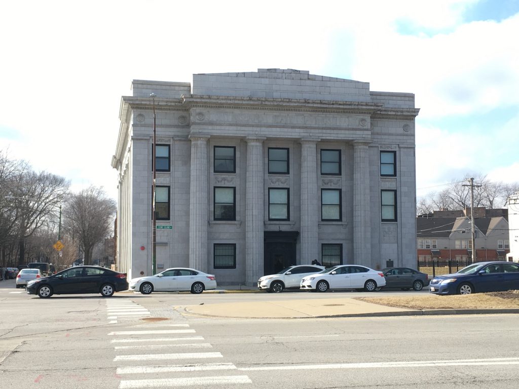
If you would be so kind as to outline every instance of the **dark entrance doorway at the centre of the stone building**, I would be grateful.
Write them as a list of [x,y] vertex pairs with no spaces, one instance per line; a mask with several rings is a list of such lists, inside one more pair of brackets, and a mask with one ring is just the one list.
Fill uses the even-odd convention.
[[297,231],[264,232],[264,272],[275,274],[291,265],[296,265],[295,245]]

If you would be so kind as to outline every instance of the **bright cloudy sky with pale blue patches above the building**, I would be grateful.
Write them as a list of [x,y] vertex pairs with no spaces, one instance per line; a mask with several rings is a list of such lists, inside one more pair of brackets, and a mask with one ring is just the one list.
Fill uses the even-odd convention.
[[110,162],[132,79],[272,67],[415,93],[419,197],[465,174],[519,181],[519,0],[50,0],[0,11],[0,149],[74,190],[116,198]]

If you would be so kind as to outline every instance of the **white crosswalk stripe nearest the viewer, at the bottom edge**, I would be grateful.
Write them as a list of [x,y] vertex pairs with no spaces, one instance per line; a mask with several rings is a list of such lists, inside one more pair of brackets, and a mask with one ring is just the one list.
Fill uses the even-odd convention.
[[223,385],[223,384],[251,384],[247,376],[197,377],[197,378],[164,378],[153,380],[121,381],[119,389],[133,389],[141,387],[174,387],[191,385]]

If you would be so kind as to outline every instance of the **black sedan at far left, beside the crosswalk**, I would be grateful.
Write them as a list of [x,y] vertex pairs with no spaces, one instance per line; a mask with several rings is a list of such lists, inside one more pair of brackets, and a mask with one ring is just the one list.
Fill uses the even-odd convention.
[[111,297],[114,292],[127,290],[125,273],[99,266],[75,266],[54,275],[29,281],[27,293],[47,298],[52,295],[100,293]]

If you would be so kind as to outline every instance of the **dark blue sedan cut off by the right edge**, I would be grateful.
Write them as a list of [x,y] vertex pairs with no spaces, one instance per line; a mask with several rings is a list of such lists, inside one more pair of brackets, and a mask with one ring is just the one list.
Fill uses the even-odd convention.
[[434,277],[429,291],[436,295],[469,295],[519,289],[519,264],[477,262],[454,274]]

